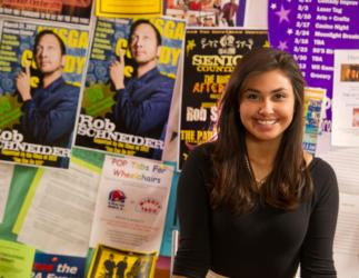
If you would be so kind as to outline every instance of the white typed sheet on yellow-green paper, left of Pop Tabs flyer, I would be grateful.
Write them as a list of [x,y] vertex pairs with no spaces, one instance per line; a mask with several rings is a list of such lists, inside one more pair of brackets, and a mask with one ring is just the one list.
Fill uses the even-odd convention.
[[13,228],[38,250],[86,257],[100,169],[74,157],[70,168],[39,169]]

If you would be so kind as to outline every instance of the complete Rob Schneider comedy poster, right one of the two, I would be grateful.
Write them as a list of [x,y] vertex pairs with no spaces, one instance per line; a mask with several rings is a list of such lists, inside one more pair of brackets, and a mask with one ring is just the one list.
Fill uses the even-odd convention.
[[97,21],[76,145],[161,159],[185,22]]

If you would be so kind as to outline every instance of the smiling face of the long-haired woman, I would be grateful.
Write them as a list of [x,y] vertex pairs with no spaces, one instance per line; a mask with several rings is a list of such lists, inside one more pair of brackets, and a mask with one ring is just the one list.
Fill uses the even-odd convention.
[[280,142],[295,113],[295,92],[288,77],[281,70],[249,77],[240,95],[239,113],[247,139]]

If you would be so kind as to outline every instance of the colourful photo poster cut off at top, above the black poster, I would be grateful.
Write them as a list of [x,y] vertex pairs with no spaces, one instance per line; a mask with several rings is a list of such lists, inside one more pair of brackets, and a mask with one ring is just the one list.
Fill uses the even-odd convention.
[[166,0],[166,14],[186,19],[189,27],[242,27],[246,0]]

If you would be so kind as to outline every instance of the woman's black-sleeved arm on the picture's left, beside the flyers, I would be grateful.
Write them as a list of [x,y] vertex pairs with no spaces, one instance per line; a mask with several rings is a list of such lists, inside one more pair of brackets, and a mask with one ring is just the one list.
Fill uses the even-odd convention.
[[185,163],[177,191],[180,224],[174,277],[206,277],[210,265],[209,195],[206,180],[211,176],[205,148],[198,147]]

